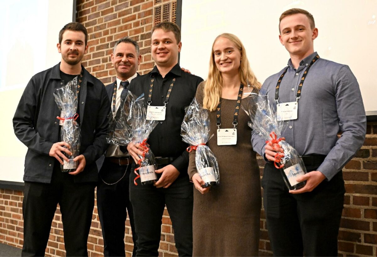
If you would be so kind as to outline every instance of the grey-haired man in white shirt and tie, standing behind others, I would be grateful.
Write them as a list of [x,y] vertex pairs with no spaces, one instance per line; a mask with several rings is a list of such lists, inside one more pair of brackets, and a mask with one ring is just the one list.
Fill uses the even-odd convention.
[[[122,96],[126,97],[128,84],[139,76],[136,72],[141,60],[139,46],[135,40],[123,37],[116,41],[111,62],[116,72],[116,80],[106,86],[115,119],[120,117]],[[124,99],[124,98],[123,98]],[[124,251],[124,225],[127,210],[132,229],[133,252],[136,255],[135,226],[133,210],[129,198],[129,179],[132,158],[126,147],[109,145],[105,155],[97,161],[101,167],[98,173],[97,207],[100,216],[104,256],[126,256]]]

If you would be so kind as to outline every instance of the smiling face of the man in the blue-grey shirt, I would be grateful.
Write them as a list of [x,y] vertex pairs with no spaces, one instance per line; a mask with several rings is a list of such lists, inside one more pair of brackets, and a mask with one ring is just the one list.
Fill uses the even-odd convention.
[[318,36],[318,29],[310,28],[310,21],[305,14],[293,14],[280,22],[280,43],[291,54],[306,57],[314,52],[313,40]]

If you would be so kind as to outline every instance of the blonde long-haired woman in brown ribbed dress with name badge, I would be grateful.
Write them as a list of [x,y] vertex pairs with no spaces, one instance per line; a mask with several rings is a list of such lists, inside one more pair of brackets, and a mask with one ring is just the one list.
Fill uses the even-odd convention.
[[[199,84],[196,99],[209,110],[215,136],[207,145],[218,159],[220,183],[201,187],[204,181],[196,171],[192,151],[188,172],[195,185],[193,256],[258,255],[261,184],[249,118],[242,105],[250,92],[260,88],[239,38],[228,33],[216,37],[208,78]],[[236,132],[233,142],[222,139],[225,130]]]

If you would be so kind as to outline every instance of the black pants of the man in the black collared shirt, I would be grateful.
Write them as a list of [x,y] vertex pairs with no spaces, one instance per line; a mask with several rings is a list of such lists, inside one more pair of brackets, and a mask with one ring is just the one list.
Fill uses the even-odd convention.
[[[159,166],[158,168],[162,168]],[[136,256],[158,256],[162,214],[165,205],[174,229],[175,246],[179,256],[192,256],[193,186],[186,174],[181,174],[168,188],[133,184],[130,176],[130,199],[138,234]],[[158,178],[160,176],[158,175]]]

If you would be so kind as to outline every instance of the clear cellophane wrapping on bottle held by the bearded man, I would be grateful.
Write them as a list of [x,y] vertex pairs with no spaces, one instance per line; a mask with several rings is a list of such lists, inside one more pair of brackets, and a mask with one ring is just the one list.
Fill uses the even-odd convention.
[[55,102],[61,110],[60,119],[63,125],[60,130],[61,141],[69,144],[72,156],[66,155],[69,162],[63,160],[61,171],[69,172],[77,168],[77,162],[73,159],[80,153],[81,135],[80,126],[76,122],[77,115],[77,77],[69,81],[65,86],[54,91]]

